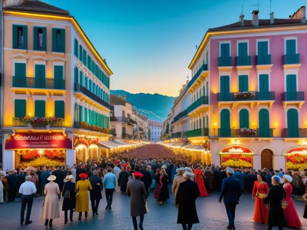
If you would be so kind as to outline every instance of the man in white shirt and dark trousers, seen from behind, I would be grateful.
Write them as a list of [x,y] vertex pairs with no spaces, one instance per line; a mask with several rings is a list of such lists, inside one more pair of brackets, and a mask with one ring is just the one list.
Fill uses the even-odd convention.
[[25,217],[25,224],[31,224],[30,219],[31,209],[33,204],[34,193],[36,193],[36,187],[33,182],[30,181],[31,176],[25,177],[25,182],[21,184],[19,193],[21,193],[21,213],[20,213],[20,224],[23,224],[25,217],[25,206],[27,205],[27,215]]

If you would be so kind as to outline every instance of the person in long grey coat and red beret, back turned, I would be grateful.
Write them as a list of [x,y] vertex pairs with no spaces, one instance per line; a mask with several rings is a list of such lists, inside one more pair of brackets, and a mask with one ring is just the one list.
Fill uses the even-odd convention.
[[[143,230],[143,220],[146,211],[147,192],[144,183],[139,179],[143,176],[140,172],[134,172],[134,180],[127,184],[127,195],[130,196],[130,216],[132,217],[134,230],[138,230],[138,226]],[[138,225],[136,217],[140,217],[140,224]]]

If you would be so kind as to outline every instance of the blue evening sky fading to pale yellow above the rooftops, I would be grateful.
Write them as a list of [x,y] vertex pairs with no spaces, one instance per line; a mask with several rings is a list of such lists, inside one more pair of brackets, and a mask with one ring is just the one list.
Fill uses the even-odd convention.
[[[111,89],[178,96],[188,65],[208,28],[245,19],[257,0],[43,0],[69,10],[114,73]],[[270,1],[259,0],[259,18]],[[272,0],[275,18],[288,18],[305,0]]]

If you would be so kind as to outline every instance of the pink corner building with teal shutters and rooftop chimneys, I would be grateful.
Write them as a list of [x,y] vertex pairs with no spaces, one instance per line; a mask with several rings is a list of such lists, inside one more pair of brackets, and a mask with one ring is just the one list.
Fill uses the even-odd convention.
[[[239,22],[209,29],[202,40],[189,65],[188,92],[195,106],[188,115],[190,130],[208,130],[192,138],[209,139],[216,165],[303,170],[305,6],[287,19],[259,15],[255,10],[252,20],[241,15]],[[206,95],[208,100],[198,100]]]

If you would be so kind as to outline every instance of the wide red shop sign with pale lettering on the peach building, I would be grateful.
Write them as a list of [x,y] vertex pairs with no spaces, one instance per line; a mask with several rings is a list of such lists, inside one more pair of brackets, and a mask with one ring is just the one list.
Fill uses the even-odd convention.
[[25,148],[72,149],[72,140],[62,133],[18,133],[5,141],[5,149]]

